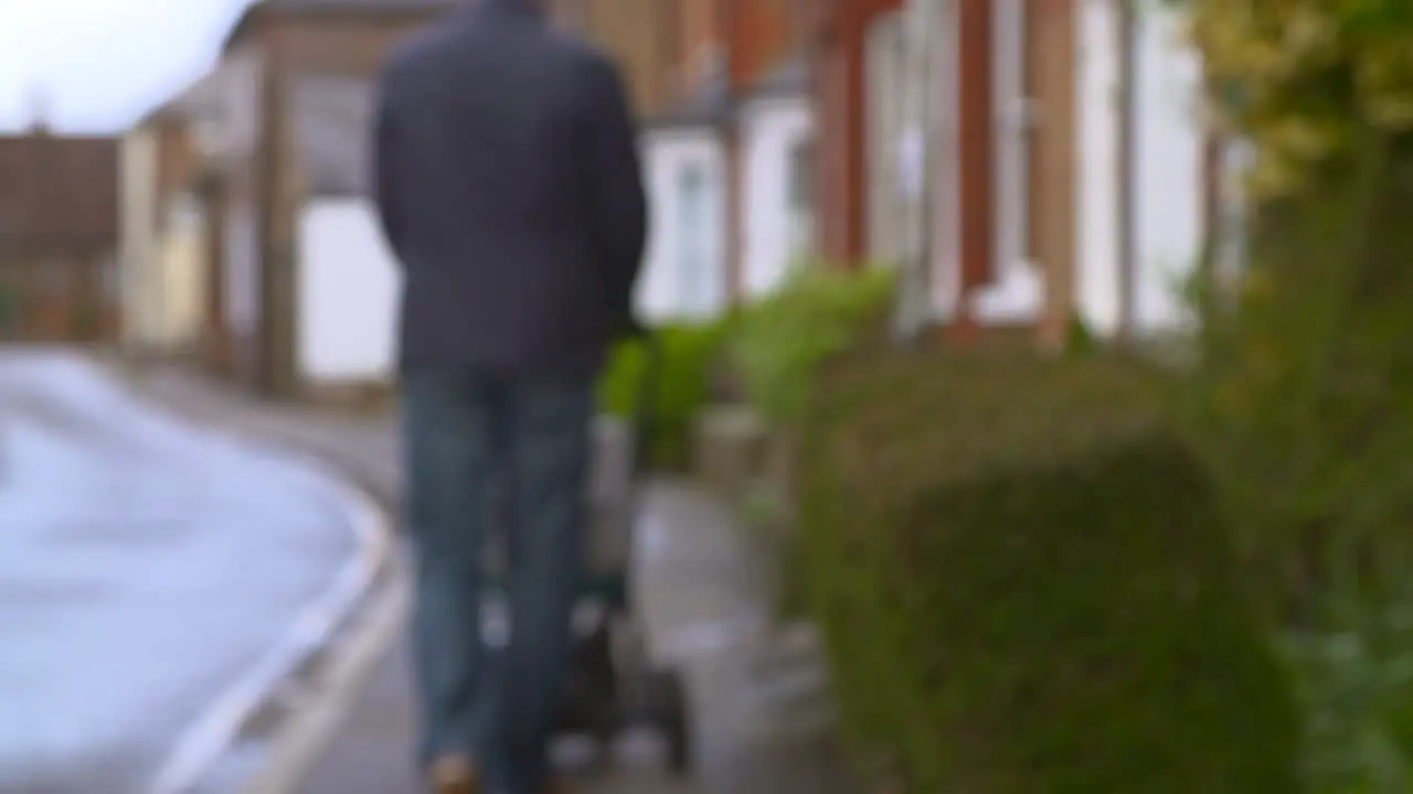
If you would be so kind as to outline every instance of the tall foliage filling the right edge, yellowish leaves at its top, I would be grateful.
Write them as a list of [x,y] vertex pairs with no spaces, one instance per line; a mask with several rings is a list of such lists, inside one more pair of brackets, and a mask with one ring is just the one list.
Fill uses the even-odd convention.
[[1409,791],[1413,4],[1183,4],[1212,106],[1256,153],[1251,261],[1207,305],[1194,438],[1289,623],[1308,788]]

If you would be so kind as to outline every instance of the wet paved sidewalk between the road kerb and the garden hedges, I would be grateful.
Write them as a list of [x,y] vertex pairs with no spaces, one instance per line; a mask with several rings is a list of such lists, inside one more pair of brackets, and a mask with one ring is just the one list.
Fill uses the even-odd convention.
[[[389,417],[270,407],[179,372],[143,390],[195,418],[300,446],[386,504],[400,493]],[[653,653],[687,675],[695,778],[673,780],[651,737],[623,742],[606,770],[577,771],[582,794],[852,794],[828,740],[812,637],[767,619],[769,575],[749,540],[709,496],[682,483],[651,487],[639,537],[636,586]],[[406,571],[406,567],[400,567]],[[400,634],[398,634],[400,636]],[[308,794],[415,794],[408,764],[413,702],[398,641],[372,674],[301,788]]]

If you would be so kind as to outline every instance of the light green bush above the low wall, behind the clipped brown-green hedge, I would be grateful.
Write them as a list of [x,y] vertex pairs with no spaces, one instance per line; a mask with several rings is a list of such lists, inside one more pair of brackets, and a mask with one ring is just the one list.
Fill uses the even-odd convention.
[[889,268],[805,264],[740,312],[731,357],[747,398],[767,421],[791,424],[804,408],[815,367],[882,328],[894,284]]

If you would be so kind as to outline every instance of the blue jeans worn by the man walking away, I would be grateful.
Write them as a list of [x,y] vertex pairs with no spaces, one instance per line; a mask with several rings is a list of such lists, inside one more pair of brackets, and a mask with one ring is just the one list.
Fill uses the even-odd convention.
[[[490,791],[537,794],[548,776],[582,575],[592,393],[588,379],[403,379],[420,760],[473,757]],[[492,654],[480,612],[497,479],[510,486],[514,564],[510,640]]]

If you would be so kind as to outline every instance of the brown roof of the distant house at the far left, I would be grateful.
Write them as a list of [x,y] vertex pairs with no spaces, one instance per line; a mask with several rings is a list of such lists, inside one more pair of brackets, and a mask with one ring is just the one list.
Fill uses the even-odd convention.
[[119,140],[0,136],[0,237],[117,243]]

